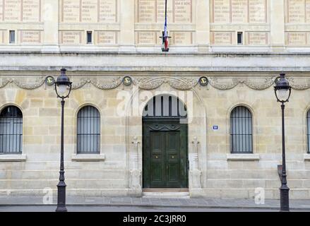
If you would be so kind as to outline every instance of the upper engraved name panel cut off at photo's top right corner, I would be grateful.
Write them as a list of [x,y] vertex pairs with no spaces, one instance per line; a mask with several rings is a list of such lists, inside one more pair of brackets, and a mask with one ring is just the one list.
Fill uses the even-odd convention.
[[287,0],[287,23],[310,23],[310,0]]

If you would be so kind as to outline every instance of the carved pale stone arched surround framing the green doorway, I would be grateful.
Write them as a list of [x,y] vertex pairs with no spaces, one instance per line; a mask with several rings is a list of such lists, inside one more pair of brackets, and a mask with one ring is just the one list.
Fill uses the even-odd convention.
[[[162,77],[151,79],[152,83],[162,81]],[[154,89],[145,89],[150,93],[147,98],[143,98],[139,93],[142,88],[137,88],[131,100],[126,105],[126,178],[128,187],[128,196],[143,196],[142,189],[142,112],[143,107],[139,109],[138,116],[131,116],[129,112],[136,106],[132,103],[144,102],[145,104],[160,92],[161,95],[175,95],[183,92],[188,94],[186,97],[179,96],[179,99],[187,106],[188,112],[188,151],[189,151],[189,196],[200,196],[201,190],[205,187],[207,181],[207,117],[205,106],[201,97],[196,92],[195,87],[186,88],[188,85],[184,80],[176,77],[165,77],[166,83]],[[175,88],[171,83],[181,83]],[[184,88],[182,88],[182,83]],[[173,88],[174,87],[174,88]],[[198,87],[198,86],[197,86]],[[198,87],[200,88],[200,87]],[[192,98],[189,98],[191,96]],[[191,99],[191,100],[189,100]],[[181,193],[180,193],[181,195]]]

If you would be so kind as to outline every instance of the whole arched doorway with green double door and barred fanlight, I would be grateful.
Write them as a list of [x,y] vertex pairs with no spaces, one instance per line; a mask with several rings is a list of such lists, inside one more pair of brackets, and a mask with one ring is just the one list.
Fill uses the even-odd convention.
[[143,111],[143,188],[188,188],[186,106],[172,95],[157,95]]

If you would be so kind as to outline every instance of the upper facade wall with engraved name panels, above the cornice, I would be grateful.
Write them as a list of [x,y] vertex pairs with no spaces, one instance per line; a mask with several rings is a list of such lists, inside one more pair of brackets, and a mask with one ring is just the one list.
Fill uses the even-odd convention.
[[[164,20],[165,0],[0,0],[0,50],[160,52]],[[168,0],[167,20],[172,52],[310,49],[310,0]]]

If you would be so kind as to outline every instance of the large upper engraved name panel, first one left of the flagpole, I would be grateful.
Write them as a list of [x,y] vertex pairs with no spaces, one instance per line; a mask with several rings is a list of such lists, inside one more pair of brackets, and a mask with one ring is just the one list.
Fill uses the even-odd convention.
[[117,0],[61,0],[63,23],[116,23]]

